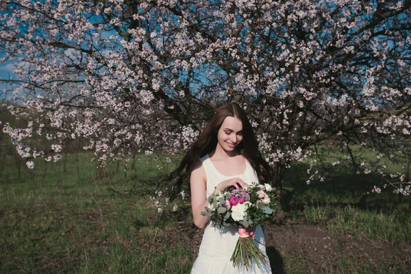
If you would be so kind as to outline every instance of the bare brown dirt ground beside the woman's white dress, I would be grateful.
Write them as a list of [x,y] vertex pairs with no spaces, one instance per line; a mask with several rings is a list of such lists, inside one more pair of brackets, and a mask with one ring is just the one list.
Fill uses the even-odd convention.
[[[342,266],[342,261],[343,264],[369,265],[370,273],[383,266],[386,268],[389,264],[395,266],[405,263],[411,269],[408,257],[411,253],[410,243],[393,246],[382,240],[369,240],[362,236],[330,235],[325,225],[264,223],[263,227],[273,273],[357,272],[349,271],[346,265]],[[192,253],[195,256],[198,254],[202,235],[203,229],[193,226],[187,234],[186,240],[192,242]],[[353,265],[355,267],[360,266]],[[393,269],[390,273],[397,272]]]

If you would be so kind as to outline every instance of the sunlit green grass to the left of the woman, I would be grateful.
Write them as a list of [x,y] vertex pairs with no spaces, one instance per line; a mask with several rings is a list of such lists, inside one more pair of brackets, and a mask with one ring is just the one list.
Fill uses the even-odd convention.
[[173,222],[162,222],[149,196],[162,179],[158,162],[142,157],[134,171],[113,163],[99,174],[90,154],[67,158],[65,172],[64,162],[49,163],[46,176],[39,160],[19,179],[12,162],[3,166],[1,273],[190,270],[190,246],[165,233]]

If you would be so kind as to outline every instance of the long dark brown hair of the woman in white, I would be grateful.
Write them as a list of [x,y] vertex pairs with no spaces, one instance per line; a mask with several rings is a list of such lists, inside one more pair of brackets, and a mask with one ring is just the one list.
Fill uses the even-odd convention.
[[182,188],[184,180],[190,176],[194,164],[204,155],[213,151],[218,143],[217,132],[227,116],[238,118],[242,122],[242,141],[237,145],[236,149],[242,154],[253,166],[253,169],[258,175],[260,184],[269,184],[271,180],[271,172],[269,164],[266,163],[260,151],[258,151],[258,142],[256,135],[253,132],[253,127],[247,118],[247,113],[237,103],[226,103],[222,105],[212,116],[212,119],[188,149],[182,162],[175,171],[169,175],[169,180],[177,179],[175,182],[175,193]]

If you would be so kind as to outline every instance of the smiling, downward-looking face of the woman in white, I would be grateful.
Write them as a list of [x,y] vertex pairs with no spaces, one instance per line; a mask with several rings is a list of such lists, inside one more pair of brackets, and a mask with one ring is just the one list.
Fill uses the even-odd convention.
[[242,140],[242,122],[233,116],[225,117],[217,134],[217,140],[225,151],[233,151]]

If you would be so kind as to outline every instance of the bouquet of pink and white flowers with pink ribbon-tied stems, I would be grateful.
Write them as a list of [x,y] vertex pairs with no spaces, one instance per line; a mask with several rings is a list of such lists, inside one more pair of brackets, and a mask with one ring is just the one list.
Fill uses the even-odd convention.
[[273,219],[279,209],[274,189],[269,184],[252,184],[247,189],[227,188],[208,198],[204,216],[210,216],[213,225],[238,227],[238,238],[231,260],[234,266],[251,266],[253,260],[258,267],[268,262],[266,255],[254,240],[254,229],[267,219]]

